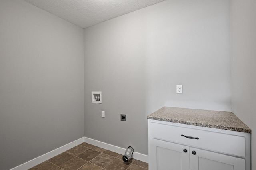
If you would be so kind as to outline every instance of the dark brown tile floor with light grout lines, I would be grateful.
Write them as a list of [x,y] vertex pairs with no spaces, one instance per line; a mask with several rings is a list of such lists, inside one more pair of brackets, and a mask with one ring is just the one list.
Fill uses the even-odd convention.
[[148,164],[131,158],[127,163],[121,154],[82,143],[30,170],[147,170]]

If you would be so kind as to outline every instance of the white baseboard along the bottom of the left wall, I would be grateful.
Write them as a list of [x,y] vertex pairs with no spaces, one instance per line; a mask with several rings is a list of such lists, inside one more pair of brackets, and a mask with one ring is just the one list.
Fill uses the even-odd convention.
[[24,164],[21,164],[19,166],[16,166],[15,168],[12,168],[11,170],[27,170],[29,168],[32,168],[33,166],[36,166],[54,156],[57,156],[58,154],[61,154],[62,152],[65,152],[66,150],[69,150],[73,148],[74,146],[77,146],[78,144],[81,144],[84,142],[84,137],[75,140],[74,142],[70,142],[64,146],[61,146],[60,148],[54,149],[46,154],[43,154],[41,156],[38,156],[37,158],[34,158],[28,162],[25,162]]

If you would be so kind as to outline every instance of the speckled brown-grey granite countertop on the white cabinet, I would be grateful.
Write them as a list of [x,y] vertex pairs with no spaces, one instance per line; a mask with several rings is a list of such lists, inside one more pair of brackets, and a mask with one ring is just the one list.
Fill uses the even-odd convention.
[[148,119],[251,133],[251,129],[232,112],[162,107],[148,115]]

